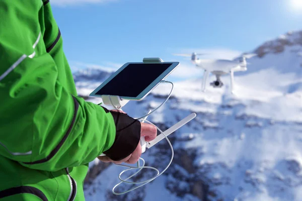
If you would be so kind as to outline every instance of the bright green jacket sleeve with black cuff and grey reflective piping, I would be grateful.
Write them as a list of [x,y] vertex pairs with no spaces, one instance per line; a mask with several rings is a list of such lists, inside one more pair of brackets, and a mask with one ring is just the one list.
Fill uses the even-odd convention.
[[122,143],[117,137],[129,130],[116,132],[118,114],[70,94],[58,81],[39,2],[0,1],[0,155],[47,171],[87,164],[106,151],[126,157],[138,143],[140,124],[127,115],[119,120],[133,121],[133,140]]

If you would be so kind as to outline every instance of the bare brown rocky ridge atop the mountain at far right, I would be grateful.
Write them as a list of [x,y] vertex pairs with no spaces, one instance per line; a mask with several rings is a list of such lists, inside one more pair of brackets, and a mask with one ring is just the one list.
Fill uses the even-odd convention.
[[267,53],[280,53],[284,51],[285,46],[300,45],[302,46],[302,31],[288,32],[285,35],[271,41],[267,41],[259,46],[254,53],[259,57],[265,56]]

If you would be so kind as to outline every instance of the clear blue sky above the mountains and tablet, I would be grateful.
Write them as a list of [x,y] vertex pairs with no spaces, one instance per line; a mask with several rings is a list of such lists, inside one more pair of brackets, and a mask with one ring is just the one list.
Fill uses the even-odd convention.
[[[287,31],[302,30],[302,0],[50,0],[71,67],[117,68],[173,53],[229,58]],[[73,68],[74,69],[74,68]],[[185,68],[184,68],[185,69]],[[197,71],[196,71],[197,72]],[[199,71],[198,71],[199,72]]]

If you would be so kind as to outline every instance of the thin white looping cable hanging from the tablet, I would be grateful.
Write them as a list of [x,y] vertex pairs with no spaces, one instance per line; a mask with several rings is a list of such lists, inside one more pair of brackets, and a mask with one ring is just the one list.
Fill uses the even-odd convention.
[[[172,88],[171,88],[170,94],[168,95],[168,97],[166,98],[166,100],[165,100],[158,108],[156,108],[156,109],[153,110],[152,112],[147,113],[146,115],[144,115],[144,116],[142,116],[142,117],[140,117],[140,118],[134,118],[134,119],[139,120],[139,119],[143,119],[143,118],[149,116],[151,113],[153,113],[153,112],[155,112],[156,110],[158,110],[161,106],[163,106],[163,105],[167,102],[167,100],[169,99],[169,97],[170,97],[171,94],[172,94],[174,85],[173,85],[173,83],[170,82],[170,81],[165,81],[165,80],[162,80],[162,81],[161,81],[161,83],[165,83],[165,82],[168,82],[168,83],[172,84]],[[109,96],[109,100],[110,100],[111,105],[112,105],[116,110],[118,110],[118,109],[112,104],[112,100],[111,100],[111,97],[110,97],[110,96]],[[166,140],[168,141],[168,143],[169,143],[169,145],[170,145],[170,147],[171,147],[171,152],[172,152],[172,154],[171,154],[171,160],[170,160],[169,164],[167,165],[167,167],[166,167],[161,173],[160,173],[160,171],[159,171],[157,168],[155,168],[155,167],[144,166],[145,161],[144,161],[143,158],[139,158],[139,159],[138,159],[138,161],[137,161],[137,167],[133,167],[133,166],[129,166],[129,165],[120,165],[120,164],[116,164],[116,165],[118,165],[118,166],[128,167],[128,169],[123,170],[123,171],[119,174],[118,178],[120,179],[121,182],[119,182],[118,184],[116,184],[116,185],[113,187],[113,189],[112,189],[113,194],[117,194],[117,195],[124,194],[124,193],[130,192],[130,191],[132,191],[132,190],[135,190],[135,189],[137,189],[137,188],[139,188],[139,187],[141,187],[141,186],[143,186],[143,185],[149,183],[150,181],[153,181],[153,180],[156,179],[158,176],[162,175],[162,174],[169,168],[169,166],[170,166],[171,163],[172,163],[172,160],[173,160],[173,157],[174,157],[174,150],[173,150],[173,146],[172,146],[170,140],[168,139],[168,137],[165,135],[165,133],[164,133],[159,127],[157,127],[157,126],[154,125],[153,123],[151,123],[151,122],[149,122],[149,121],[147,121],[147,120],[145,120],[145,119],[143,119],[143,121],[145,121],[145,122],[147,122],[147,123],[152,124],[153,126],[155,126],[155,127],[156,127],[156,128],[157,128],[164,136],[165,136]],[[142,166],[139,165],[139,160],[142,160]],[[140,171],[142,170],[142,168],[153,169],[153,170],[155,170],[155,171],[157,172],[157,175],[154,176],[153,178],[150,178],[150,179],[146,180],[146,181],[141,181],[141,182],[127,181],[128,179],[130,179],[130,178],[132,178],[134,175],[136,175],[138,172],[140,172]],[[130,176],[127,177],[126,179],[122,179],[122,178],[121,178],[121,175],[122,175],[123,173],[125,173],[126,171],[129,171],[129,170],[132,170],[132,169],[138,169],[138,171],[136,171],[134,174],[130,175]],[[121,183],[130,183],[130,184],[141,184],[141,183],[142,183],[142,184],[136,186],[135,188],[131,188],[131,189],[127,190],[127,191],[124,191],[124,192],[120,192],[120,193],[115,192],[114,189],[115,189],[118,185],[120,185]]]

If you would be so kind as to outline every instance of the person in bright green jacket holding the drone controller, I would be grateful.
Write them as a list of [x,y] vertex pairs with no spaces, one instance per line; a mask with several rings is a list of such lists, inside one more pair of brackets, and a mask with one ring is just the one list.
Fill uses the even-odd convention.
[[89,162],[137,162],[156,128],[77,95],[49,0],[0,17],[0,200],[85,200]]

